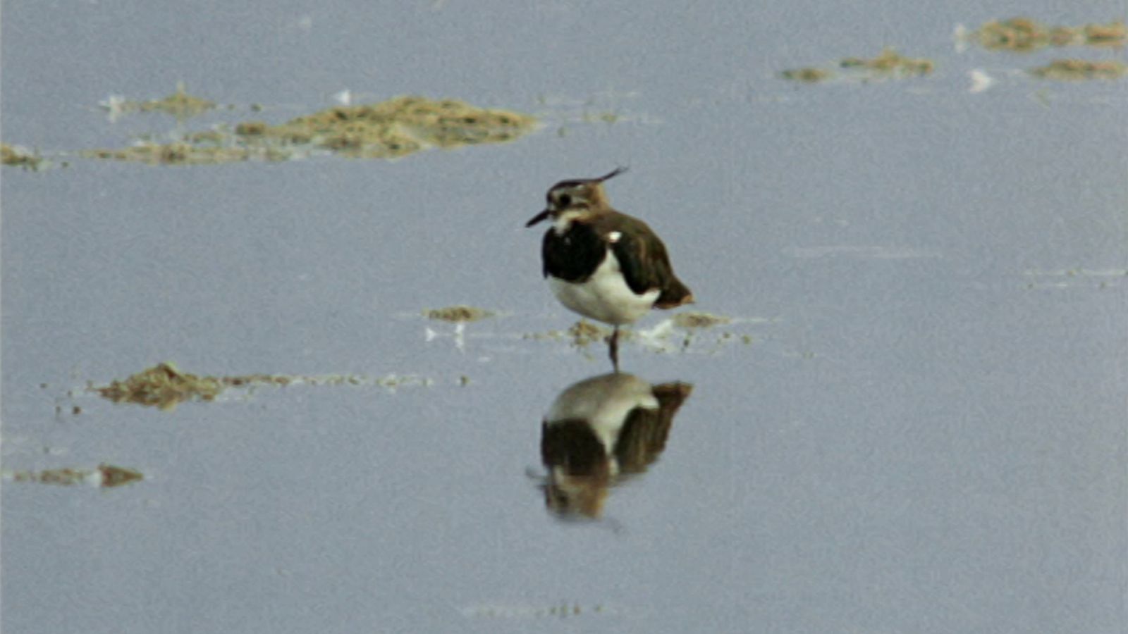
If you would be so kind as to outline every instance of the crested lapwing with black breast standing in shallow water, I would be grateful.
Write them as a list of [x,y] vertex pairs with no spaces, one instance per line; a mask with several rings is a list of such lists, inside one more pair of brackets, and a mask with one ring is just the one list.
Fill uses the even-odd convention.
[[658,234],[611,208],[603,183],[624,171],[617,167],[598,178],[556,183],[545,195],[545,210],[525,224],[552,220],[541,241],[541,272],[566,308],[614,327],[608,352],[616,371],[619,326],[652,308],[694,301],[693,292],[673,274]]

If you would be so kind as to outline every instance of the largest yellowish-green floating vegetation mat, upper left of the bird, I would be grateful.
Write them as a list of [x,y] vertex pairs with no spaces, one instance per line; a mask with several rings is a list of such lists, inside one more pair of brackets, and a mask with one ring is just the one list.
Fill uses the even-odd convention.
[[[187,96],[182,96],[175,103],[186,100]],[[279,125],[245,121],[168,143],[147,141],[123,149],[88,150],[82,156],[148,165],[287,160],[315,151],[394,159],[433,147],[512,141],[536,126],[531,115],[478,108],[456,99],[403,96],[377,104],[336,106]]]

